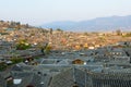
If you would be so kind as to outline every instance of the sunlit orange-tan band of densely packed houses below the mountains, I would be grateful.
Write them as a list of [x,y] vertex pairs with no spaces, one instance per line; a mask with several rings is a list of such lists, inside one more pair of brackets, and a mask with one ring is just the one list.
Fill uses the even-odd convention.
[[[26,40],[32,45],[43,45],[49,42],[53,50],[81,50],[96,49],[117,41],[130,41],[131,37],[118,36],[110,33],[72,33],[62,30],[50,30],[44,28],[9,28],[0,29],[0,38],[7,41]],[[127,34],[127,33],[124,33]]]

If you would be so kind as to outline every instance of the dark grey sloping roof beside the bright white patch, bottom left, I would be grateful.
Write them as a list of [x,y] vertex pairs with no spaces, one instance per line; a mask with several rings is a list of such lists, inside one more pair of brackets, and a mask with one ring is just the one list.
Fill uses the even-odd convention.
[[48,83],[50,80],[50,75],[44,73],[34,73],[34,72],[12,72],[12,76],[14,79],[22,79],[21,84],[14,85],[10,87],[26,87],[32,85],[34,87],[48,87]]

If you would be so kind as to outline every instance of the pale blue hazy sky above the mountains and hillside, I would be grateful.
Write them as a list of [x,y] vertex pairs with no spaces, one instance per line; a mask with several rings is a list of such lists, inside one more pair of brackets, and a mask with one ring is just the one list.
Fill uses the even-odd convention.
[[131,0],[0,0],[0,20],[31,25],[130,14]]

